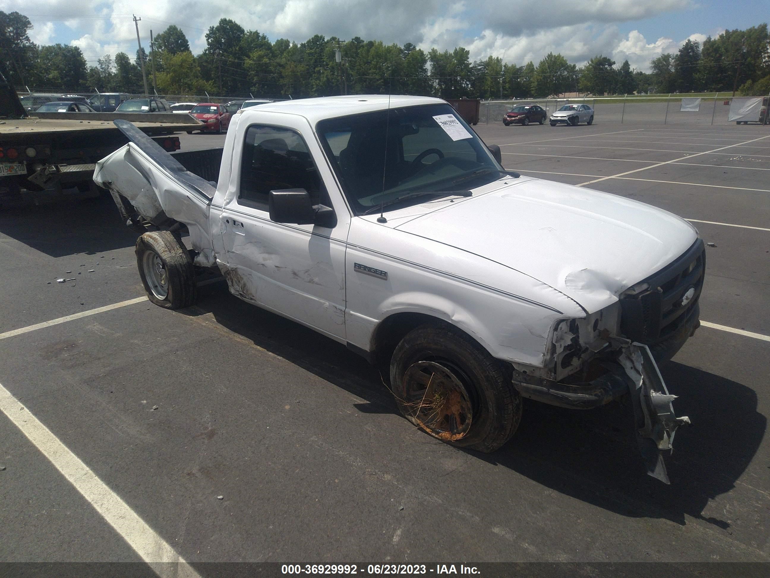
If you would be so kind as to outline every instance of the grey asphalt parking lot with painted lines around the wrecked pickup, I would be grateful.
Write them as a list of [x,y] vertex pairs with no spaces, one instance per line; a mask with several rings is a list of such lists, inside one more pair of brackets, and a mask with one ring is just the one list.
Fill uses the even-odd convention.
[[661,366],[693,422],[671,486],[614,405],[526,404],[503,449],[459,451],[362,358],[222,284],[184,311],[137,301],[136,234],[105,197],[0,213],[0,560],[770,561],[770,127],[475,128],[508,169],[715,244],[704,326]]

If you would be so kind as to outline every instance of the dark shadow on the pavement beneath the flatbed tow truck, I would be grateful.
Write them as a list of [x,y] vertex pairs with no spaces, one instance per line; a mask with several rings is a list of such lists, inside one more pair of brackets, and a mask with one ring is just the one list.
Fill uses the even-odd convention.
[[0,210],[0,234],[51,257],[133,247],[138,236],[121,223],[106,193],[95,199]]

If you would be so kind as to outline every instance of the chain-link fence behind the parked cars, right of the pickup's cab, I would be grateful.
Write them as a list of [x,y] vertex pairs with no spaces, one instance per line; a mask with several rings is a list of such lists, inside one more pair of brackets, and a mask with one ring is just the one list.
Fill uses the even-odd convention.
[[[729,119],[733,99],[745,98],[745,96],[718,96],[711,92],[711,94],[702,96],[629,95],[603,98],[589,96],[582,99],[490,100],[481,102],[479,122],[502,123],[503,116],[513,106],[537,104],[546,109],[548,115],[551,116],[565,104],[580,103],[588,104],[594,109],[594,119],[598,123],[725,125],[738,122]],[[749,98],[761,98],[762,106],[759,110],[758,120],[748,122],[770,123],[767,114],[770,95],[758,94]],[[695,102],[695,99],[698,99],[699,102]]]

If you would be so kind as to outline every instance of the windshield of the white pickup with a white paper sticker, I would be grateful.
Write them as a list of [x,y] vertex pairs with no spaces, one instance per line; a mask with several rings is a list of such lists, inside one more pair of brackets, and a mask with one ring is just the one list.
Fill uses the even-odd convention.
[[407,200],[407,193],[464,193],[503,176],[484,143],[448,104],[327,119],[316,130],[357,214],[397,199],[418,204],[430,198]]

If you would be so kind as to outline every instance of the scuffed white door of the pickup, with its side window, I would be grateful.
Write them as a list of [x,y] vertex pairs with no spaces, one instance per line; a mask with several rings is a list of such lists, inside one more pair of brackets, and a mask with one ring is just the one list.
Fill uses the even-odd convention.
[[[286,116],[280,117],[285,123]],[[313,161],[314,156],[323,159],[320,147],[287,126],[248,126],[242,121],[236,131],[220,222],[224,249],[220,259],[227,261],[230,291],[344,341],[350,213],[340,207],[341,193],[328,166],[324,163],[320,171]],[[335,201],[326,183],[335,187]],[[277,189],[307,190],[313,204],[334,208],[336,227],[273,222],[268,195]]]

